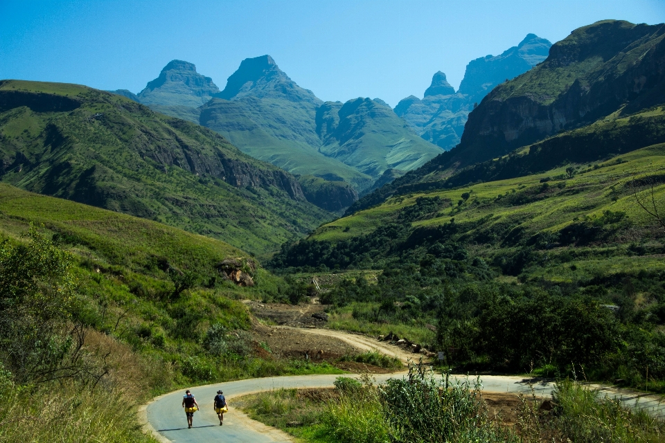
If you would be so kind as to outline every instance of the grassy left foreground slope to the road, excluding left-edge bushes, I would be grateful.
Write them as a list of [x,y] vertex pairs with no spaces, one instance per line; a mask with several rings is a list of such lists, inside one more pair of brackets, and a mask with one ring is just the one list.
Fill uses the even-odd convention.
[[[257,343],[248,342],[239,355],[206,350],[202,341],[211,325],[247,339],[249,313],[238,299],[270,298],[285,286],[263,269],[253,272],[254,287],[222,281],[216,269],[221,260],[251,260],[238,248],[0,183],[0,242],[29,241],[24,234],[30,224],[73,254],[76,301],[68,314],[86,328],[86,361],[108,372],[94,388],[69,380],[22,388],[0,362],[0,422],[12,423],[0,426],[2,441],[154,442],[141,433],[135,409],[154,395],[213,381],[339,373],[326,364],[259,358]],[[193,273],[195,286],[173,296],[160,261]]]

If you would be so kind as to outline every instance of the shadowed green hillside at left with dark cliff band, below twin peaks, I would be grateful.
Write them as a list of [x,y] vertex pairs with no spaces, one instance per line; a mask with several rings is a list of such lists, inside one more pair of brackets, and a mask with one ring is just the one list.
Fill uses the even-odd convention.
[[330,217],[209,129],[73,84],[0,83],[0,178],[266,253]]

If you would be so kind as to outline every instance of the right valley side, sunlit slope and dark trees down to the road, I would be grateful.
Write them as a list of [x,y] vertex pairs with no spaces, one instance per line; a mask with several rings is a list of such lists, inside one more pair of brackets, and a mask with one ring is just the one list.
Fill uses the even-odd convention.
[[580,364],[594,379],[663,390],[665,233],[635,192],[650,196],[651,183],[662,208],[664,148],[393,197],[283,246],[271,264],[373,270],[375,282],[349,279],[321,300],[351,304],[360,322],[436,325],[422,344],[458,370],[553,376]]

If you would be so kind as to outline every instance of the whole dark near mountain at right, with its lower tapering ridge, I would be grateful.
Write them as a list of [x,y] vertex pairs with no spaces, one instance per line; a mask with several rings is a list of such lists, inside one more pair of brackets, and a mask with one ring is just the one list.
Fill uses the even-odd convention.
[[493,89],[461,143],[357,201],[535,174],[665,141],[665,24],[598,21],[547,60]]

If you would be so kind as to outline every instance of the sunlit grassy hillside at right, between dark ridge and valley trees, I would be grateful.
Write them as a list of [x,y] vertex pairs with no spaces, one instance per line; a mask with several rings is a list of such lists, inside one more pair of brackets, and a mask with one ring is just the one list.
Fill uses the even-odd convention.
[[[646,147],[599,163],[573,165],[572,172],[567,171],[569,168],[570,165],[526,177],[476,183],[465,188],[411,192],[391,197],[375,208],[361,210],[319,227],[294,246],[294,253],[283,257],[283,265],[316,267],[323,264],[329,268],[337,265],[342,269],[348,266],[371,269],[422,246],[420,243],[423,242],[468,244],[484,260],[496,263],[510,257],[520,247],[535,242],[539,235],[555,238],[569,230],[584,230],[587,225],[595,226],[594,220],[603,219],[603,214],[610,211],[623,214],[622,223],[613,228],[631,232],[630,240],[623,238],[628,233],[619,235],[619,230],[611,235],[603,233],[607,237],[598,232],[572,242],[552,240],[548,243],[556,247],[549,248],[550,255],[579,255],[582,260],[575,262],[578,271],[572,273],[569,262],[551,260],[542,269],[538,266],[538,275],[570,280],[574,275],[579,278],[587,270],[592,271],[598,266],[608,266],[606,269],[609,271],[616,257],[605,259],[603,252],[594,260],[589,260],[598,252],[598,246],[605,242],[614,244],[612,247],[617,248],[619,255],[626,257],[626,265],[631,268],[656,266],[657,269],[665,269],[665,262],[659,257],[649,257],[648,254],[637,259],[632,257],[625,244],[639,238],[638,233],[644,235],[638,243],[648,243],[654,235],[655,238],[660,236],[657,231],[650,231],[648,224],[645,225],[646,214],[636,208],[630,180],[635,174],[638,177],[649,174],[661,180],[660,171],[665,170],[665,145]],[[657,191],[665,192],[665,188],[661,185]],[[361,241],[393,224],[405,225],[393,242],[370,244]],[[338,257],[341,261],[337,261],[336,249],[353,248],[355,246],[351,245],[355,242],[360,249],[353,251],[353,259]],[[299,248],[307,249],[318,243],[323,244],[321,248],[326,253],[314,255],[313,261],[312,257],[299,255]],[[586,244],[593,244],[593,247],[587,248]],[[379,249],[375,250],[376,247]],[[653,251],[659,251],[660,246],[653,247]],[[567,257],[568,261],[574,262],[574,256]],[[515,271],[511,273],[519,274]]]

